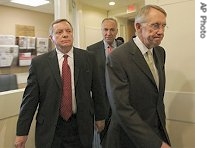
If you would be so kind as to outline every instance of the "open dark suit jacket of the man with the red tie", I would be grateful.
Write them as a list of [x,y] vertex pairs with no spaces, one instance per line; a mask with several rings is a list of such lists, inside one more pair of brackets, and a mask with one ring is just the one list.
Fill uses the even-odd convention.
[[[91,148],[94,114],[96,120],[105,119],[104,92],[93,54],[78,48],[74,48],[73,54],[78,130],[83,146]],[[61,76],[56,50],[33,58],[17,122],[17,135],[28,135],[38,107],[36,147],[50,148],[59,117],[61,92]]]

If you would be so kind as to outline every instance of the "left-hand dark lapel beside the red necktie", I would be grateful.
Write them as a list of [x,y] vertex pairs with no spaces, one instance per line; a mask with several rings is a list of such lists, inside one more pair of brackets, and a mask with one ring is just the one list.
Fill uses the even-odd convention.
[[56,79],[56,82],[59,88],[61,88],[61,76],[60,76],[56,50],[53,50],[52,52],[50,52],[49,57],[48,57],[48,64],[49,64],[52,74],[54,75]]

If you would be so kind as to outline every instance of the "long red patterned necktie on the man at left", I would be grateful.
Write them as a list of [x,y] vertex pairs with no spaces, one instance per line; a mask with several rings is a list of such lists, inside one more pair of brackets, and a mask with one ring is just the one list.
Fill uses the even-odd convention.
[[68,120],[72,114],[72,89],[71,89],[71,70],[68,65],[68,55],[64,55],[62,64],[62,84],[63,93],[60,106],[60,115],[64,120]]

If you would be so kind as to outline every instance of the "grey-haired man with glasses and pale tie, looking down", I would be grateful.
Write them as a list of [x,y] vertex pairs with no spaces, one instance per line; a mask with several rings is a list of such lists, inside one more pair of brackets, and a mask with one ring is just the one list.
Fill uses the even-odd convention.
[[106,148],[170,148],[163,102],[165,50],[159,46],[166,16],[159,6],[144,6],[135,18],[136,37],[107,57],[113,114]]

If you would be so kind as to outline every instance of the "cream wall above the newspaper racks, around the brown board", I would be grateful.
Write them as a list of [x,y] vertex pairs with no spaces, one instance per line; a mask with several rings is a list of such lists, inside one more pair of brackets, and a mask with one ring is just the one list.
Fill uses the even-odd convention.
[[34,26],[36,37],[48,37],[53,15],[0,5],[0,20],[2,35],[15,35],[15,25],[18,24]]

